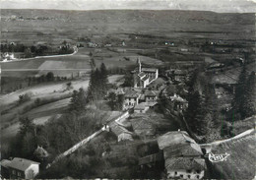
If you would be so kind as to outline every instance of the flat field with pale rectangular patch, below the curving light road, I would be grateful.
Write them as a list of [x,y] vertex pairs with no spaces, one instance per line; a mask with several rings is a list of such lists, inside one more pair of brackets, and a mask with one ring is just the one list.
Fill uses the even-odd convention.
[[29,60],[0,63],[2,76],[23,77],[36,76],[53,72],[55,76],[74,77],[79,73],[91,71],[89,51],[80,49],[72,56],[32,58]]

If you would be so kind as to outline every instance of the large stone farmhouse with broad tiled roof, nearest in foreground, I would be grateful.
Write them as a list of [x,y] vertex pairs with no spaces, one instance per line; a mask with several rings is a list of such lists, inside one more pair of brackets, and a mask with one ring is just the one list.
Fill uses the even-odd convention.
[[206,163],[200,146],[185,131],[168,132],[158,139],[166,178],[202,179]]

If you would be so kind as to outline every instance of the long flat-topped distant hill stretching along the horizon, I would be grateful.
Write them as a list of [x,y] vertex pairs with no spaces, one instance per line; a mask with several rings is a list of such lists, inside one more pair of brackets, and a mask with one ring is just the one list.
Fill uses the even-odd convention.
[[1,39],[54,41],[92,34],[251,39],[255,14],[149,10],[1,10]]

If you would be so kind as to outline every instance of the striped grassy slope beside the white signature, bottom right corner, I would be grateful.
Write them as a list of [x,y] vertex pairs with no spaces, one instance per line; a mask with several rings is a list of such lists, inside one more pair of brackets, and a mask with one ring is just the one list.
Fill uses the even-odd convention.
[[227,152],[226,161],[212,165],[221,172],[222,179],[252,179],[255,176],[255,131],[250,135],[213,147],[215,154]]

